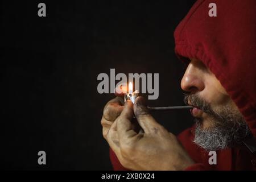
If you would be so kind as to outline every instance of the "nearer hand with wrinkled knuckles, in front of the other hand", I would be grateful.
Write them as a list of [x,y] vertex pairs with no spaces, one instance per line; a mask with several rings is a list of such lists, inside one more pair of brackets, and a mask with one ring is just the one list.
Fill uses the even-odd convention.
[[[133,129],[133,114],[144,132]],[[126,101],[105,139],[127,169],[182,170],[194,163],[175,135],[148,113],[142,97],[134,105]]]

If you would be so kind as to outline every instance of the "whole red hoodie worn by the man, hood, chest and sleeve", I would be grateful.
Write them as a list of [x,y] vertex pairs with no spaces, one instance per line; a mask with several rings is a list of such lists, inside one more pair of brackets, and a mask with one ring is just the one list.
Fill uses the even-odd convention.
[[[216,3],[217,16],[208,7]],[[256,1],[199,0],[174,32],[175,52],[181,60],[203,61],[236,103],[256,137]],[[192,142],[194,127],[183,131],[180,142],[196,164],[187,170],[255,170],[255,139],[247,147],[217,151],[217,164],[210,165],[208,152]],[[252,152],[251,152],[252,151]],[[115,170],[125,169],[110,150]]]

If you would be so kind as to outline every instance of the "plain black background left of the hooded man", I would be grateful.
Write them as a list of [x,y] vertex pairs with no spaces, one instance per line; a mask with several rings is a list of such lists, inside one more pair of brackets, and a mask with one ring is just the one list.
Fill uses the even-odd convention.
[[[193,2],[2,2],[1,168],[112,169],[100,120],[114,96],[97,92],[97,76],[159,73],[148,105],[183,105],[173,33]],[[154,116],[174,134],[192,124],[189,111]]]

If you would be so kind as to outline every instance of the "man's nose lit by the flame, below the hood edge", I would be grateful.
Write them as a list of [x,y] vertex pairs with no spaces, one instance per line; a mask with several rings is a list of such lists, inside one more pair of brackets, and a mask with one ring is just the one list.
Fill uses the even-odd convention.
[[185,92],[196,93],[204,90],[203,75],[193,64],[189,64],[180,82]]

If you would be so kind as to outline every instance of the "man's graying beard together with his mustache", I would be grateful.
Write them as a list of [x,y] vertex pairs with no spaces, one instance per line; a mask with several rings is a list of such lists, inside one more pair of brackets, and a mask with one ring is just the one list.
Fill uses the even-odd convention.
[[218,111],[213,110],[197,94],[187,95],[184,98],[186,104],[191,101],[192,105],[198,106],[208,114],[209,122],[213,127],[202,129],[202,119],[195,118],[195,142],[207,151],[221,150],[227,147],[239,146],[242,140],[252,136],[249,126],[247,125],[242,114],[230,106],[222,106]]

